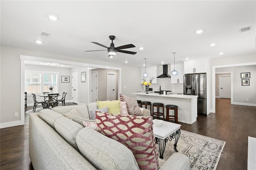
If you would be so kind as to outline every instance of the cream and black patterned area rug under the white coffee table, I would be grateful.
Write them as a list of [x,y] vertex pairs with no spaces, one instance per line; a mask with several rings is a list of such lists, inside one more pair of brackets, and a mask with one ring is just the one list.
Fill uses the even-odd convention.
[[[215,170],[226,142],[185,130],[180,130],[180,132],[177,150],[189,157],[191,169]],[[174,139],[166,143],[163,160],[168,160],[175,153],[173,144]]]

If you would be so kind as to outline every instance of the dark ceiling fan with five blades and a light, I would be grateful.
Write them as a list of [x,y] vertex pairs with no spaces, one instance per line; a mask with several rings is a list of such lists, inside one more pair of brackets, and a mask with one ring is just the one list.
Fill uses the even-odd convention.
[[[122,45],[119,47],[115,47],[113,40],[115,40],[116,36],[109,36],[110,40],[112,41],[112,43],[110,43],[110,47],[107,47],[105,45],[102,45],[100,43],[97,42],[92,42],[95,43],[97,45],[100,45],[102,47],[105,47],[107,49],[102,49],[102,50],[90,50],[90,51],[107,51],[108,50],[108,57],[113,57],[114,55],[116,55],[117,52],[120,53],[127,53],[127,54],[136,54],[137,52],[133,52],[133,51],[126,51],[126,50],[121,50],[121,49],[126,49],[126,48],[133,48],[135,47],[135,45],[133,44],[127,44],[127,45]],[[86,51],[87,52],[87,51]]]

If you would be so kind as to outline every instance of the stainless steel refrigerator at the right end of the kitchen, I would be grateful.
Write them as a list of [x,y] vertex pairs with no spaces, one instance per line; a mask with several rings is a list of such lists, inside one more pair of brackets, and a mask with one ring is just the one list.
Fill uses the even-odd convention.
[[197,95],[197,113],[206,114],[206,73],[184,74],[184,95]]

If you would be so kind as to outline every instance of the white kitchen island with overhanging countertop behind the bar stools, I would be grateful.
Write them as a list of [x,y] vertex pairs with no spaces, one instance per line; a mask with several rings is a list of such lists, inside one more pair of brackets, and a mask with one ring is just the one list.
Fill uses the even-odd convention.
[[[197,97],[194,95],[160,95],[158,93],[132,93],[136,95],[137,100],[164,103],[165,105],[177,105],[178,121],[192,124],[197,117]],[[152,107],[153,108],[153,107]],[[173,111],[169,112],[173,115]],[[166,117],[166,108],[164,107],[164,117]]]

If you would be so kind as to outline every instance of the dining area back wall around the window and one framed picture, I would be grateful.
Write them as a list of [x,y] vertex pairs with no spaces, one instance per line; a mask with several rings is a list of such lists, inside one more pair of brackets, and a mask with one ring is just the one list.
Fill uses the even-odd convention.
[[[61,76],[69,76],[71,78],[71,69],[70,68],[63,68],[63,67],[51,67],[51,66],[42,66],[42,65],[30,65],[30,64],[25,64],[25,70],[32,70],[32,71],[49,71],[49,72],[58,72],[59,73],[59,89],[58,92],[60,93],[60,96],[62,97],[62,93],[66,92],[66,101],[71,100],[71,89],[72,89],[72,82],[70,79],[70,83],[62,83],[61,82]],[[39,97],[36,96],[37,100],[43,100],[44,97]],[[31,94],[27,95],[27,105],[28,106],[33,106],[33,97]]]

